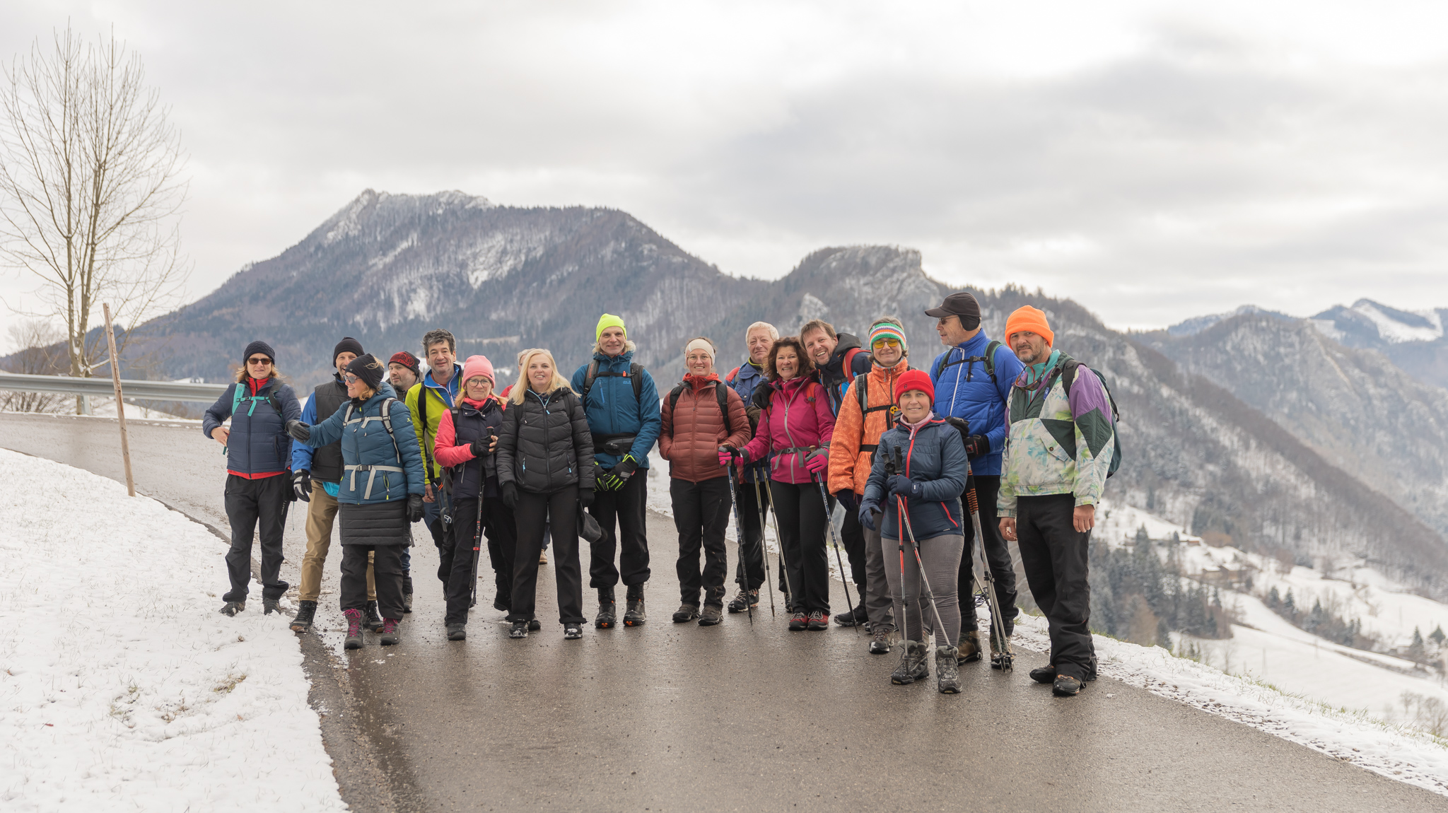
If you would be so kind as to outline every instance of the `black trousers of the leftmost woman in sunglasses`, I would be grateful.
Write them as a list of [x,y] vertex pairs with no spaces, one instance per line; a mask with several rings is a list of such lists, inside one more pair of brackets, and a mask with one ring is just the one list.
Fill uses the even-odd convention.
[[[232,589],[223,602],[245,602],[252,582],[252,541],[262,537],[262,597],[279,599],[291,584],[281,580],[281,534],[291,505],[291,477],[275,474],[248,480],[226,476],[226,519],[232,525],[232,550],[226,551],[226,573]],[[366,587],[363,586],[363,593]]]

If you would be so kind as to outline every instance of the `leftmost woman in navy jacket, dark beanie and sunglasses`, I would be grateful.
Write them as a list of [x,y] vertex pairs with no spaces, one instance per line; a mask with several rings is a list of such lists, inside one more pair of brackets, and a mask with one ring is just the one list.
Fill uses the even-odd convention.
[[[252,580],[252,541],[262,537],[262,606],[279,612],[277,602],[287,592],[281,580],[281,535],[291,505],[291,441],[287,421],[301,414],[297,395],[281,382],[277,353],[265,341],[252,341],[242,353],[236,382],[226,388],[201,418],[201,434],[226,450],[226,519],[232,525],[232,550],[226,571],[232,589],[222,596],[223,615],[246,609]],[[222,424],[230,418],[232,428]]]

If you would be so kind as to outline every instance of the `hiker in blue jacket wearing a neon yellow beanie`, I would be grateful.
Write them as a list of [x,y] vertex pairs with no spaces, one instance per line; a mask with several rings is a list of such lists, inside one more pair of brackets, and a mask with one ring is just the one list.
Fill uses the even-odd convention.
[[[646,621],[643,586],[649,582],[644,527],[649,450],[663,428],[659,388],[649,370],[633,363],[634,343],[628,340],[624,320],[604,314],[594,337],[594,359],[578,367],[569,382],[584,396],[584,414],[594,435],[594,460],[599,469],[597,495],[588,512],[598,519],[604,534],[591,544],[588,584],[598,590],[599,619],[611,622],[614,586],[623,579],[628,589],[624,626],[639,626]],[[614,567],[615,548],[618,567]],[[597,619],[595,623],[605,628]]]

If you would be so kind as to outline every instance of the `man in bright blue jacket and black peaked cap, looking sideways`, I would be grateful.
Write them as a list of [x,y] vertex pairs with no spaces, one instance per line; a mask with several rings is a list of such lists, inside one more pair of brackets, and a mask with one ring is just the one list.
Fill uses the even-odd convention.
[[[943,418],[964,418],[970,424],[966,453],[975,474],[976,496],[980,502],[980,534],[985,537],[986,563],[995,577],[996,600],[1005,616],[1006,637],[1015,629],[1015,569],[1011,551],[1001,538],[996,519],[996,495],[1001,490],[1001,451],[1005,448],[1005,406],[1011,398],[1011,383],[1021,375],[1021,360],[1009,347],[992,341],[980,325],[980,304],[969,292],[946,297],[938,308],[925,315],[935,317],[935,333],[947,347],[930,366],[935,385],[935,414]],[[976,602],[970,595],[975,570],[975,529],[966,524],[966,553],[960,557],[960,660],[980,660]],[[999,668],[1001,652],[1009,641],[990,641],[990,665]]]

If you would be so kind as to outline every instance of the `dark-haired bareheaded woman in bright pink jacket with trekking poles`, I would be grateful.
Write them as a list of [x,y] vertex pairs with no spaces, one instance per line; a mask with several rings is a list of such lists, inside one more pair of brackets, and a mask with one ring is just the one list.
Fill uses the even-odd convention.
[[730,457],[769,459],[769,493],[779,518],[779,548],[791,590],[791,631],[830,628],[830,561],[824,535],[828,506],[815,477],[830,467],[834,414],[804,344],[786,336],[769,349],[766,383],[754,388],[759,428],[744,448],[720,448]]

